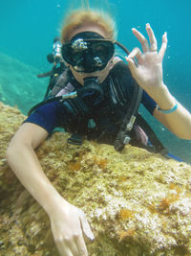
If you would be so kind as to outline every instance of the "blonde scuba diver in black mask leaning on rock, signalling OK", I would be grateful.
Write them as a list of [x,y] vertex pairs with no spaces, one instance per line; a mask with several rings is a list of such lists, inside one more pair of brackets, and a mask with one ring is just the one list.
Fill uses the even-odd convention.
[[61,30],[60,69],[56,73],[55,64],[51,73],[56,79],[50,82],[44,101],[32,108],[16,131],[7,151],[12,171],[47,212],[60,255],[88,255],[83,234],[91,240],[94,234],[85,214],[54,189],[35,154],[54,128],[71,132],[69,143],[77,145],[85,136],[114,145],[117,151],[131,143],[161,152],[162,146],[138,114],[141,103],[178,137],[191,139],[191,115],[163,82],[166,33],[158,49],[149,24],[149,40],[132,31],[142,51],[133,49],[126,56],[127,65],[115,55],[116,24],[107,13],[91,9],[70,13]]

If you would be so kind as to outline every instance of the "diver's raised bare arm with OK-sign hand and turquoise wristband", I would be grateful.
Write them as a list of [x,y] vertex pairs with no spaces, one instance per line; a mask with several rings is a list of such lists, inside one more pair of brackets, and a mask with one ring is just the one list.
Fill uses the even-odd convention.
[[[191,140],[191,114],[175,100],[163,83],[162,59],[167,47],[166,33],[162,36],[158,52],[158,43],[149,24],[146,24],[149,42],[136,29],[132,31],[141,43],[143,53],[135,48],[126,59],[139,86],[159,105],[153,115],[178,137]],[[138,67],[133,58],[138,59]],[[163,110],[168,110],[168,113],[164,113]]]

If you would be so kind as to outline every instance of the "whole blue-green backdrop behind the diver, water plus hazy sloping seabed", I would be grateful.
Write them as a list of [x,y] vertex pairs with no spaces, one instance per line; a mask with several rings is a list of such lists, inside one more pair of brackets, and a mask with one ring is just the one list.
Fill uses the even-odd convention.
[[[43,99],[48,79],[36,74],[52,69],[47,55],[53,52],[53,38],[59,35],[68,8],[81,1],[11,0],[2,1],[0,9],[0,101],[17,106],[27,114]],[[117,20],[117,39],[129,50],[139,46],[131,29],[145,35],[150,23],[160,46],[166,31],[168,48],[163,60],[164,82],[174,97],[191,111],[191,29],[189,0],[95,0],[93,7],[103,8]],[[168,150],[191,163],[191,141],[178,139],[140,108]]]

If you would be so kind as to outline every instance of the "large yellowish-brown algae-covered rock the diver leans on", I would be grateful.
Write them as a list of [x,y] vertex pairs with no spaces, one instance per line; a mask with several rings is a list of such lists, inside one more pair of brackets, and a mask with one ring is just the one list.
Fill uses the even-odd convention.
[[[11,172],[5,151],[24,120],[0,105],[0,255],[58,255],[44,210]],[[126,146],[66,143],[55,132],[36,151],[59,193],[87,215],[91,256],[191,255],[191,167]]]

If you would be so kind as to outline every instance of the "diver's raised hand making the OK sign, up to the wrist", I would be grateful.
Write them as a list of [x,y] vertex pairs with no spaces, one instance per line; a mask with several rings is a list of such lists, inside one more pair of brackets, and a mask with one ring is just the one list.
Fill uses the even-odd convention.
[[[142,53],[139,48],[135,48],[126,58],[132,76],[150,95],[158,93],[163,86],[162,59],[167,47],[167,35],[166,33],[162,35],[162,44],[158,52],[158,42],[149,24],[146,24],[149,42],[138,30],[132,29],[132,31],[138,38],[143,51]],[[138,67],[133,58],[138,59]]]

